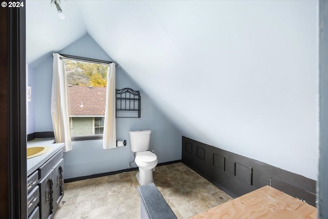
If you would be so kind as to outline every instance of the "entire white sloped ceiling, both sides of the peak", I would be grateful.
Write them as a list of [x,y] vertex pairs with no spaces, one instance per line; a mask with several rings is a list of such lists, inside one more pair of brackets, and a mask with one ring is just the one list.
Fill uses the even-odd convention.
[[28,63],[87,32],[187,137],[317,178],[317,1],[27,6]]

